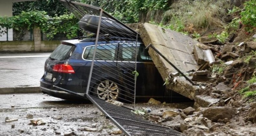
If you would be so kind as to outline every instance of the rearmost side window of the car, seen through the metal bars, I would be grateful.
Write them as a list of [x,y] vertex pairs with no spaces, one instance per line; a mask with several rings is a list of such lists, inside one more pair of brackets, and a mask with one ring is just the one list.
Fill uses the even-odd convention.
[[[87,46],[83,59],[92,60],[95,46]],[[95,55],[95,60],[114,61],[115,60],[115,45],[98,45]]]

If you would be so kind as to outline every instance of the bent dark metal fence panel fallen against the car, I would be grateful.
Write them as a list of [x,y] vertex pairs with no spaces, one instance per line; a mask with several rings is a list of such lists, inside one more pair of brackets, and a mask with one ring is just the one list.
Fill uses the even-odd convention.
[[[181,136],[178,131],[133,113],[138,47],[143,44],[139,34],[99,7],[70,0],[60,1],[80,19],[81,29],[96,35],[95,44],[86,47],[83,54],[84,59],[91,62],[84,97],[127,136]],[[72,91],[62,90],[81,97]]]

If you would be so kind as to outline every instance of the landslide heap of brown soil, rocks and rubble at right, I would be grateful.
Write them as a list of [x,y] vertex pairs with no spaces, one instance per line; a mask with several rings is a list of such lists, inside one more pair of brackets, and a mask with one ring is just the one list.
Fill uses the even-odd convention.
[[[198,89],[191,92],[192,85],[178,86],[179,76],[168,80],[170,85],[174,85],[174,90],[190,91],[188,96],[195,100],[194,107],[159,109],[151,113],[149,119],[186,135],[256,135],[256,28],[255,24],[244,24],[245,16],[241,17],[244,14],[241,11],[247,11],[243,9],[243,3],[231,4],[233,9],[229,9],[230,14],[224,18],[224,28],[213,31],[200,29],[199,37],[190,35],[200,42],[193,46],[192,52],[200,67],[186,73],[199,85]],[[255,8],[255,4],[250,7],[254,11]],[[143,24],[129,26],[140,31]],[[188,25],[187,28],[192,29],[193,26]],[[201,54],[195,54],[199,50],[212,51],[214,60],[209,62],[200,57]]]

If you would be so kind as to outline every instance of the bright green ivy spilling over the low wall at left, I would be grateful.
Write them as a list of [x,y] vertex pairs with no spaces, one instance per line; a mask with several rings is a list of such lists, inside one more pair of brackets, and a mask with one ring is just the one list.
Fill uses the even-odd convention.
[[[76,37],[79,29],[77,22],[73,14],[50,17],[45,11],[29,11],[13,17],[0,17],[0,28],[13,28],[21,32],[37,24],[49,39],[57,33],[65,33],[67,38],[73,38]],[[0,31],[0,35],[4,33],[6,31]]]

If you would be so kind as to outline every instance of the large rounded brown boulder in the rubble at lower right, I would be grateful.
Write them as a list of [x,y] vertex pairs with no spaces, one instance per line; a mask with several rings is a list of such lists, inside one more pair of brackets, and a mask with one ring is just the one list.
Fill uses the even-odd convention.
[[206,117],[214,122],[218,119],[231,119],[232,116],[236,113],[236,109],[232,107],[210,107],[205,109],[203,112],[203,117]]

